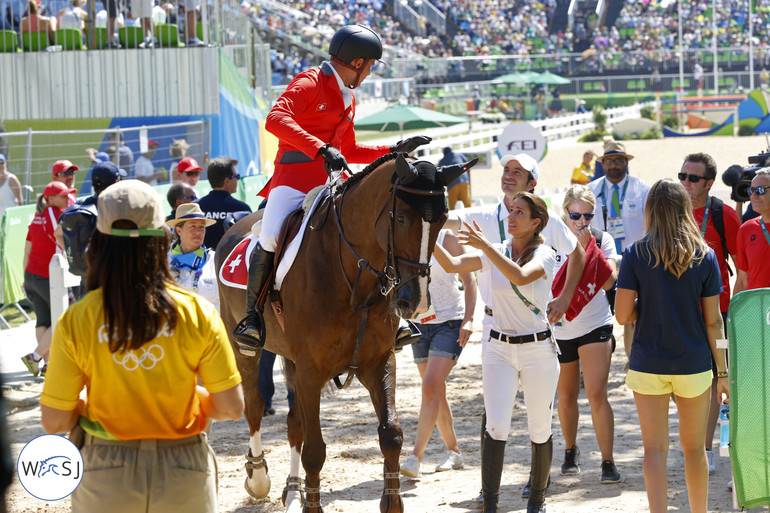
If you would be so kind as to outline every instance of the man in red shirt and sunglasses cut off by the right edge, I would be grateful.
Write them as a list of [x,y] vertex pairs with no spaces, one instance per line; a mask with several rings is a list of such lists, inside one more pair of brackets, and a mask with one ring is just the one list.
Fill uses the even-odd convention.
[[748,192],[751,206],[758,217],[751,219],[738,230],[738,276],[734,293],[743,290],[770,287],[770,167],[754,173]]

